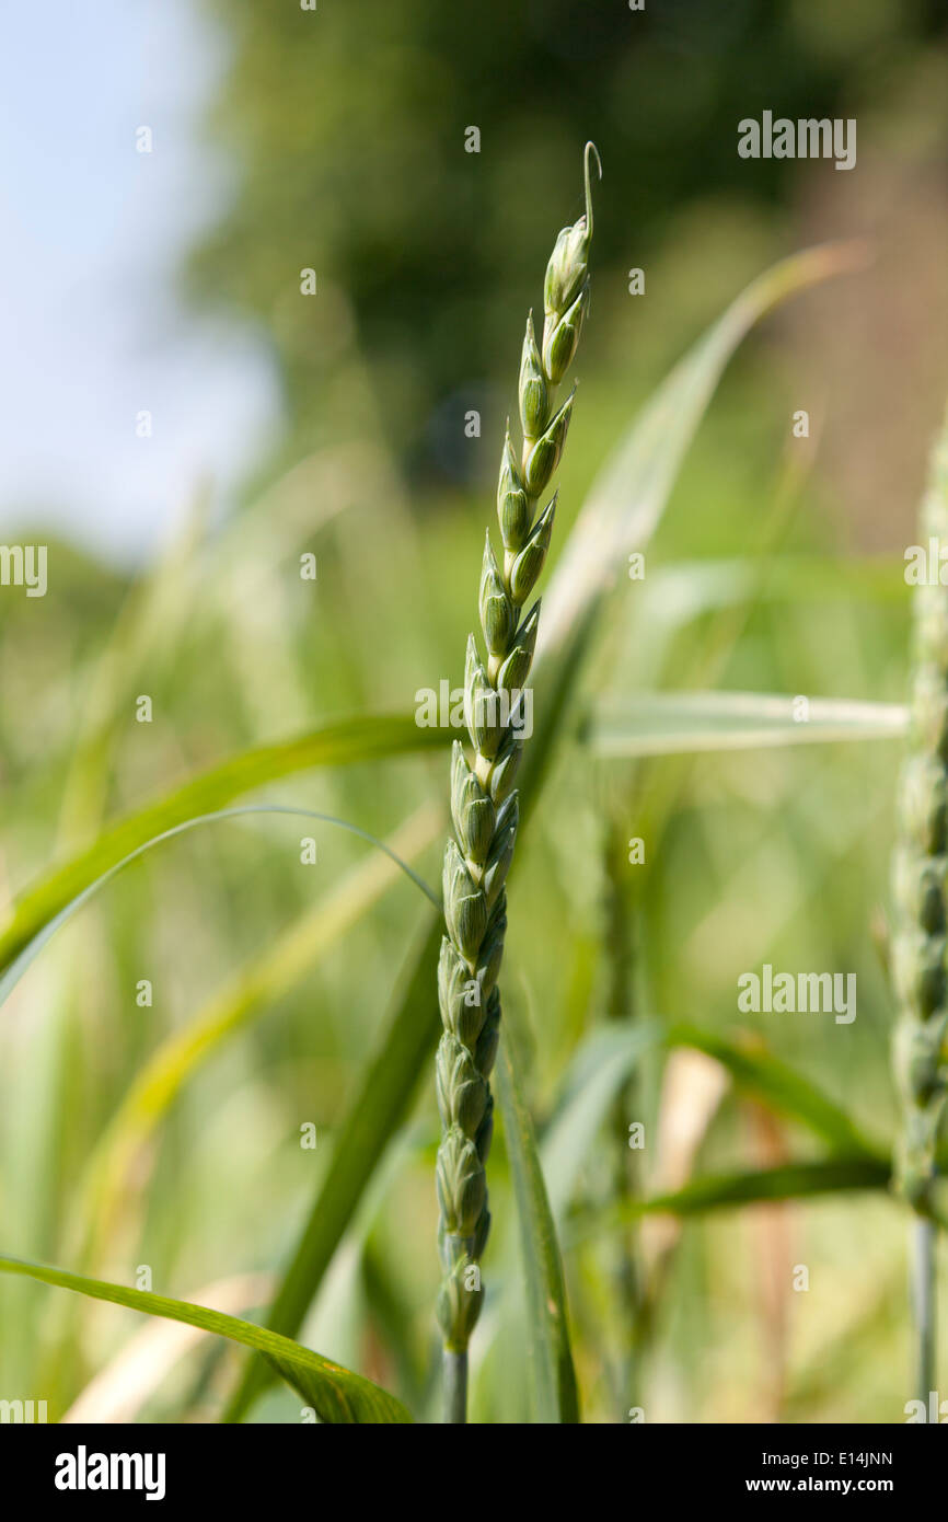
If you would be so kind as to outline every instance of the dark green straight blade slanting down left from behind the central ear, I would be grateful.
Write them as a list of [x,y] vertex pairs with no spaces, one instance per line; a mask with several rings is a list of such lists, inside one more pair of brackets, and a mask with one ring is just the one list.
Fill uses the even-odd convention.
[[[396,1126],[405,1117],[422,1075],[428,1073],[441,1030],[434,982],[440,944],[441,922],[432,916],[391,1024],[345,1114],[333,1145],[332,1163],[266,1317],[268,1326],[288,1336],[303,1324],[362,1192]],[[245,1370],[224,1420],[240,1422],[268,1383],[266,1367],[254,1359]]]

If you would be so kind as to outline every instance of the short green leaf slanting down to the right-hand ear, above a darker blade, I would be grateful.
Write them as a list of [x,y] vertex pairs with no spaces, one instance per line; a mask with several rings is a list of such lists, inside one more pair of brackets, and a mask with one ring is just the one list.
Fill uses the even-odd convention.
[[800,1122],[834,1151],[886,1161],[884,1149],[869,1142],[846,1111],[811,1079],[781,1062],[762,1044],[738,1046],[697,1026],[674,1024],[668,1046],[694,1047],[727,1068],[738,1088],[764,1100],[771,1110]]

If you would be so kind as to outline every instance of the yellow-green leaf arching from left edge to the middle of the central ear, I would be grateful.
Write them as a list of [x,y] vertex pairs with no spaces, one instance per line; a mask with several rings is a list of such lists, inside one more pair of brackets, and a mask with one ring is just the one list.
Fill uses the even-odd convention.
[[99,878],[131,858],[148,842],[167,836],[187,820],[218,813],[242,793],[251,793],[295,772],[441,749],[450,738],[450,731],[425,729],[409,717],[367,715],[231,756],[175,791],[126,814],[91,846],[53,868],[27,889],[0,931],[0,970],[6,970],[62,909]]

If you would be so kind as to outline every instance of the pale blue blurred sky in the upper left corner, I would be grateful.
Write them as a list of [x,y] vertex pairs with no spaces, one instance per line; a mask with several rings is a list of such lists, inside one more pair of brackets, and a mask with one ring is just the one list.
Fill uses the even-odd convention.
[[278,420],[253,330],[175,289],[228,190],[201,139],[225,43],[187,0],[0,17],[0,536],[52,524],[134,563],[202,476],[225,502]]

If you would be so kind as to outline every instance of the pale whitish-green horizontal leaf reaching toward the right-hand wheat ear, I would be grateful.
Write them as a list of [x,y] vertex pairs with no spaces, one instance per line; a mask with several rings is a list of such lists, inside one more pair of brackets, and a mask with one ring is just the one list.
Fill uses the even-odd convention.
[[901,703],[811,697],[805,720],[793,697],[765,693],[644,693],[601,699],[583,738],[593,755],[635,758],[705,750],[756,750],[837,740],[899,740],[908,726]]

